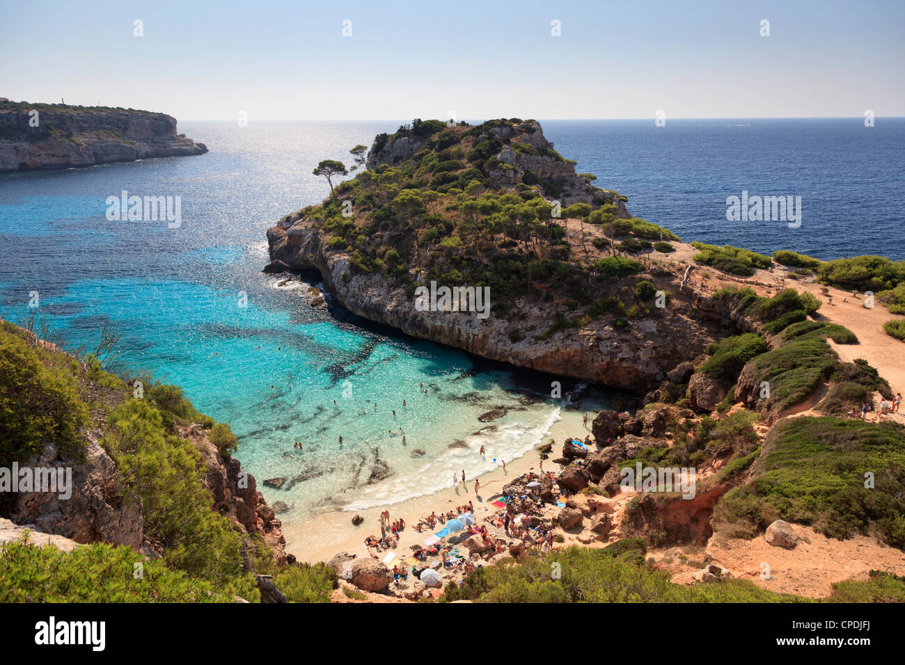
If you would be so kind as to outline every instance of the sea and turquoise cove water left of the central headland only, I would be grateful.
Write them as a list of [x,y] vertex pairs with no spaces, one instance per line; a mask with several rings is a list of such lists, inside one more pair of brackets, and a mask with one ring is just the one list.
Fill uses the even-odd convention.
[[[181,385],[230,423],[243,468],[291,507],[284,521],[414,498],[449,487],[453,471],[474,478],[515,459],[558,418],[549,377],[311,309],[308,283],[261,272],[266,229],[326,193],[312,165],[386,129],[186,123],[210,154],[0,177],[0,309],[15,320],[38,291],[71,347],[114,324],[118,367]],[[108,221],[106,198],[123,189],[180,195],[182,225]],[[477,420],[499,407],[499,421]],[[263,488],[272,477],[284,489]]]

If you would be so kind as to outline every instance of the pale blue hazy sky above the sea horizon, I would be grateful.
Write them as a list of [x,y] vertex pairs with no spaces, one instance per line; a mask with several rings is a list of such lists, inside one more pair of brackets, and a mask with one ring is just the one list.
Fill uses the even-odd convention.
[[0,0],[0,97],[249,122],[887,117],[903,37],[905,0]]

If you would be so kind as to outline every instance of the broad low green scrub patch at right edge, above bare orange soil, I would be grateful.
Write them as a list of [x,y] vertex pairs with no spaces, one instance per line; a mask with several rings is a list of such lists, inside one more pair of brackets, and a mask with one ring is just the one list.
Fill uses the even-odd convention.
[[769,432],[752,479],[719,500],[714,520],[729,537],[754,537],[781,518],[840,539],[876,532],[905,548],[902,487],[905,427],[793,418]]

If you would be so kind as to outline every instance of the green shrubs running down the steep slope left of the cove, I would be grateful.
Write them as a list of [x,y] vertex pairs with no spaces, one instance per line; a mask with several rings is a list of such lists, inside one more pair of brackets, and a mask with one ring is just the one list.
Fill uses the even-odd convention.
[[[138,396],[137,381],[144,386]],[[198,413],[180,388],[148,376],[127,384],[94,356],[79,360],[40,343],[32,331],[0,321],[0,466],[26,461],[48,443],[77,457],[84,430],[99,429],[101,445],[123,479],[123,500],[141,499],[144,534],[157,544],[162,564],[229,597],[256,601],[252,575],[240,565],[243,535],[211,510],[201,454],[177,433],[189,423],[212,428],[211,441],[222,453],[234,450],[229,426]],[[245,538],[256,560],[270,559],[260,537]],[[119,556],[102,548],[91,552],[98,565]],[[48,556],[41,565],[56,565]]]

